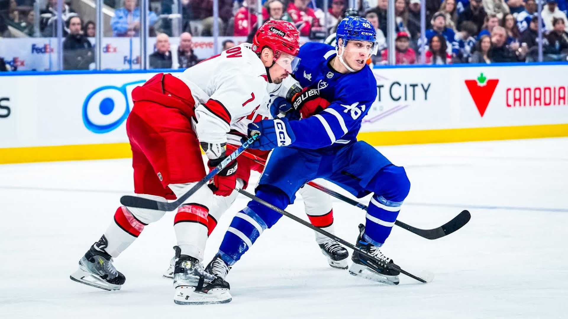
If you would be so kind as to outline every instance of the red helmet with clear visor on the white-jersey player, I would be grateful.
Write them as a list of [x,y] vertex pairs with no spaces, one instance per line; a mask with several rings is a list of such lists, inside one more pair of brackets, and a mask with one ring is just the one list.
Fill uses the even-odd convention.
[[300,51],[300,33],[294,24],[284,20],[268,20],[252,39],[252,51],[260,53],[268,47],[274,53],[274,62],[290,73],[294,73],[300,59],[296,57]]

